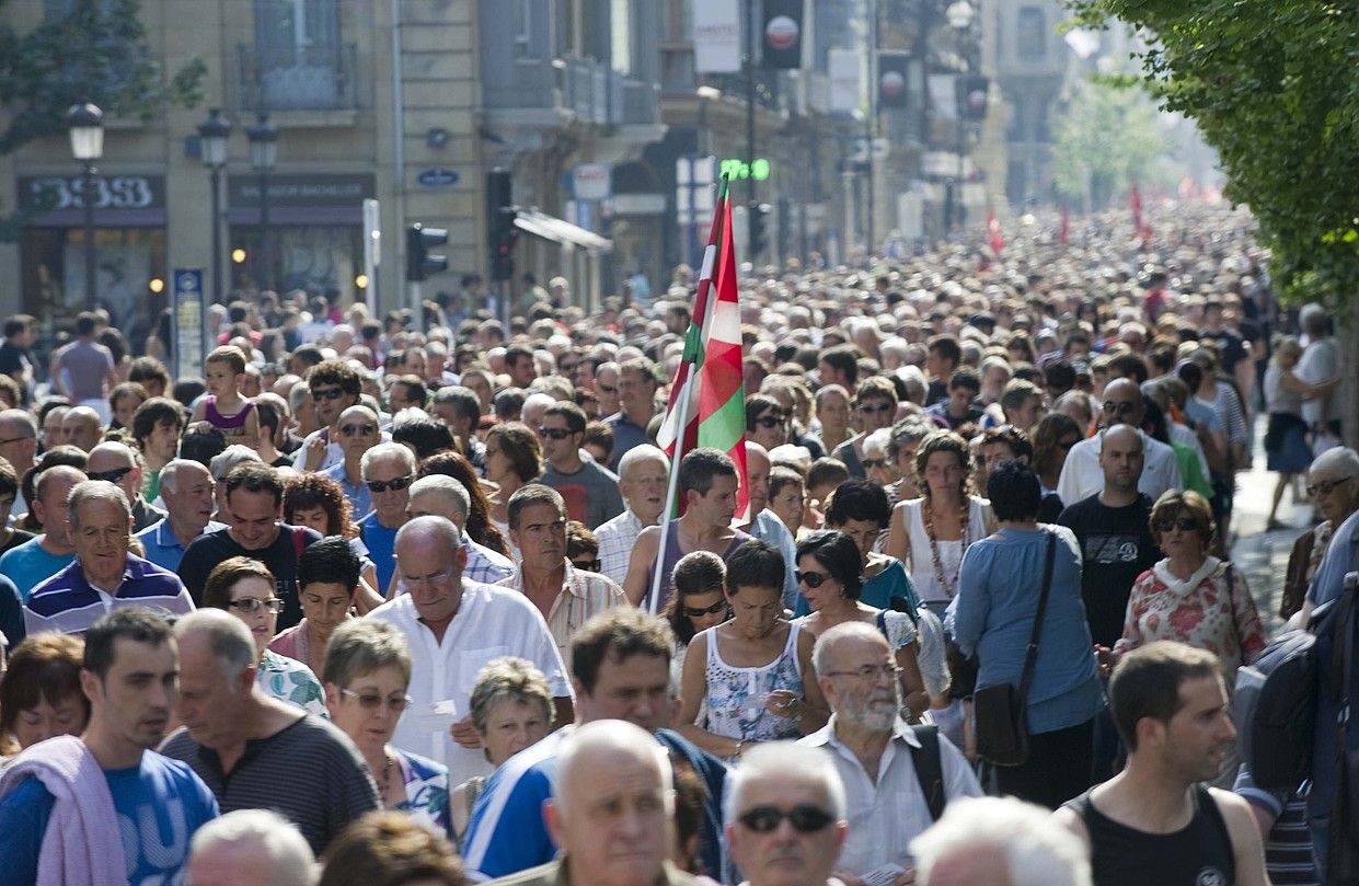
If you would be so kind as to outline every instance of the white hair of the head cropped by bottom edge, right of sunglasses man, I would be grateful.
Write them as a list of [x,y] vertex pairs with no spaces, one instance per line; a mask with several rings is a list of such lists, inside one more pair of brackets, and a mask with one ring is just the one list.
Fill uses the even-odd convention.
[[1055,822],[1048,810],[1012,796],[965,796],[949,803],[943,817],[911,841],[916,882],[930,886],[942,859],[985,849],[1003,855],[1014,886],[1093,883],[1080,838]]

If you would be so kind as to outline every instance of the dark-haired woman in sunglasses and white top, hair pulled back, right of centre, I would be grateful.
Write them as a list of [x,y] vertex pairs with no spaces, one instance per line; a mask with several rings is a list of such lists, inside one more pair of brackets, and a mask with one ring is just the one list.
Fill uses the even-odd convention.
[[811,612],[794,624],[814,637],[845,621],[875,625],[892,645],[901,669],[904,716],[915,719],[930,705],[917,660],[920,643],[916,621],[911,613],[877,609],[859,599],[863,592],[863,556],[849,535],[828,529],[798,542],[798,588]]

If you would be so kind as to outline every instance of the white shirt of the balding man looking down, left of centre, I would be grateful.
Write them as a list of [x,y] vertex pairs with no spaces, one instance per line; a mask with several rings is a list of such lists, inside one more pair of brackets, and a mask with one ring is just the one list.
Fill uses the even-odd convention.
[[406,635],[410,647],[410,708],[397,723],[391,743],[401,750],[429,757],[448,766],[448,784],[491,775],[493,766],[481,750],[458,745],[450,727],[465,719],[477,671],[493,658],[516,655],[531,662],[548,678],[556,698],[571,697],[567,667],[537,607],[515,591],[462,582],[458,614],[443,641],[420,621],[409,594],[383,603],[370,618],[390,622]]

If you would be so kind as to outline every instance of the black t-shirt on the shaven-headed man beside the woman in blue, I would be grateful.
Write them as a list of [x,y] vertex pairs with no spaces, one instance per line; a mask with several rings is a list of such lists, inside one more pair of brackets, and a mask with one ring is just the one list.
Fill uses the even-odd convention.
[[1161,559],[1150,518],[1151,499],[1144,493],[1121,508],[1106,507],[1093,495],[1057,518],[1080,542],[1080,597],[1090,637],[1101,645],[1112,647],[1123,636],[1132,584]]

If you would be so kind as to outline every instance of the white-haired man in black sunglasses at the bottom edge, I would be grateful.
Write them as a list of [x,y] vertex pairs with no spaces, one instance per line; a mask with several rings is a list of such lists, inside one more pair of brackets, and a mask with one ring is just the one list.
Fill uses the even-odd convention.
[[847,830],[844,785],[819,750],[766,742],[743,756],[727,794],[727,843],[749,886],[828,886]]

